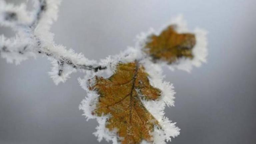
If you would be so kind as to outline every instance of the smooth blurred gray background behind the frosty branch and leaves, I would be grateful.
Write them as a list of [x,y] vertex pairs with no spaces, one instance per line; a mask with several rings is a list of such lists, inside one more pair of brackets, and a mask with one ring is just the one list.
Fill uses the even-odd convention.
[[[190,29],[209,31],[209,57],[191,74],[164,69],[177,92],[166,116],[181,128],[171,143],[255,144],[255,7],[255,0],[64,0],[52,31],[56,43],[99,60],[184,14]],[[2,27],[0,33],[14,35]],[[0,144],[98,143],[96,120],[87,122],[78,109],[86,95],[77,82],[83,74],[56,86],[50,68],[40,56],[18,66],[0,59]]]

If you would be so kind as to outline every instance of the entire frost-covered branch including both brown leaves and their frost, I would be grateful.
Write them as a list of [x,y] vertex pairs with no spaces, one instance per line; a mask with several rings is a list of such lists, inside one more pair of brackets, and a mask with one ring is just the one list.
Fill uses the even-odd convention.
[[[138,36],[135,48],[128,48],[116,56],[109,56],[97,63],[94,60],[88,60],[82,54],[75,53],[72,49],[67,50],[61,45],[56,45],[53,41],[53,34],[49,30],[53,21],[57,19],[60,0],[33,0],[33,2],[35,10],[28,12],[24,4],[13,6],[0,0],[0,24],[11,27],[16,32],[16,36],[10,39],[3,35],[0,37],[0,53],[3,58],[7,59],[7,62],[14,61],[19,64],[28,57],[35,57],[36,54],[47,56],[53,64],[49,74],[56,84],[65,82],[69,74],[76,70],[89,70],[90,72],[86,73],[84,79],[79,79],[81,87],[87,92],[87,96],[79,108],[84,111],[87,119],[97,119],[99,126],[94,135],[98,137],[99,141],[104,138],[107,141],[113,141],[114,144],[127,144],[131,142],[129,137],[133,137],[136,139],[134,140],[136,144],[165,144],[166,141],[171,141],[171,137],[179,135],[180,129],[164,116],[165,107],[174,106],[175,92],[172,84],[163,81],[161,66],[167,66],[171,70],[181,69],[190,72],[192,66],[199,67],[205,63],[207,57],[206,31],[195,29],[193,33],[190,33],[186,22],[182,16],[179,16],[168,23],[164,29],[157,32],[151,29],[148,33]],[[135,69],[132,66],[134,62],[136,63]],[[140,65],[139,69],[137,68],[138,64]],[[105,73],[98,72],[103,69],[106,69],[103,71]],[[127,96],[125,92],[131,82],[127,82],[127,80],[131,77],[133,83],[130,84],[131,89],[128,91],[130,96]],[[98,81],[98,78],[104,84],[102,81]],[[150,99],[154,97],[155,99]],[[133,104],[138,103],[132,99],[137,99],[136,101],[140,102],[135,111]],[[119,129],[123,128],[123,124],[127,125],[127,120],[119,117],[120,111],[125,114],[124,109],[120,109],[120,107],[127,101],[130,112],[128,132],[126,129],[118,130],[115,126],[109,125],[111,120],[118,118],[120,118],[120,121],[117,121]],[[105,102],[118,102],[118,105],[109,105],[112,115],[104,113],[109,107],[104,109]],[[103,109],[100,110],[102,113],[98,111],[96,114],[100,103],[103,106]],[[150,124],[148,118],[140,117],[143,114],[138,114],[138,112],[143,111],[138,111],[139,108],[148,112],[147,117],[151,120],[154,119],[155,122]],[[136,131],[136,124],[141,123],[139,119],[149,131],[145,130],[144,135],[135,137],[132,134],[141,132],[140,130]],[[132,122],[135,122],[133,128],[130,127]],[[112,123],[115,122],[112,121]],[[121,136],[127,137],[127,139],[124,140]]]

